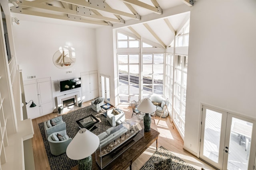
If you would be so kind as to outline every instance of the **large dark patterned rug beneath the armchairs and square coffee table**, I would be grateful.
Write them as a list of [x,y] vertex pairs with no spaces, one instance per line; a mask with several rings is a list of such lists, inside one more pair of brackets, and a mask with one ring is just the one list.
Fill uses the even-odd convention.
[[[63,121],[66,122],[66,131],[67,131],[68,137],[71,137],[73,139],[76,133],[79,131],[79,127],[76,121],[91,114],[100,120],[100,122],[96,124],[98,128],[92,130],[91,131],[92,133],[94,133],[95,135],[99,135],[100,133],[109,129],[111,125],[107,121],[106,117],[102,115],[102,113],[103,111],[95,112],[91,108],[91,106],[87,106],[87,107],[72,111],[66,115],[62,115]],[[72,160],[68,158],[66,153],[61,154],[59,156],[54,156],[51,154],[50,146],[44,133],[44,122],[38,123],[38,126],[40,128],[41,135],[44,141],[44,147],[46,150],[46,154],[49,160],[51,170],[70,170],[72,167],[76,166],[78,164],[77,160]]]

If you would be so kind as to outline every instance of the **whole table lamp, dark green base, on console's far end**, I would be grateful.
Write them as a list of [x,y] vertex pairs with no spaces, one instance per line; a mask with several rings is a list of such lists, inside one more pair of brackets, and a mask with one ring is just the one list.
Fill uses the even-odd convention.
[[144,98],[142,102],[137,106],[137,109],[145,113],[143,117],[143,123],[144,123],[144,131],[148,132],[150,131],[150,124],[151,124],[151,113],[154,113],[156,111],[156,106],[152,104],[151,100],[149,98]]

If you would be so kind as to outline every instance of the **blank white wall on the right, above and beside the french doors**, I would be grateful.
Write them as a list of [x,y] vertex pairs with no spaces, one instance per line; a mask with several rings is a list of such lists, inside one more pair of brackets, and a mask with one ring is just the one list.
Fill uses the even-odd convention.
[[192,7],[184,148],[194,154],[201,102],[256,118],[255,9],[255,0],[199,0]]

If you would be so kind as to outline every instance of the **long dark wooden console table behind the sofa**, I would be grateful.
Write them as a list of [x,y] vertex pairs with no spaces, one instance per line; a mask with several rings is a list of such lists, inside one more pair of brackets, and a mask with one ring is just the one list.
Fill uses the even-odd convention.
[[[118,158],[113,160],[110,164],[103,168],[103,170],[125,170],[130,166],[132,169],[132,162],[134,162],[154,141],[156,141],[157,149],[157,139],[160,133],[151,128],[149,132],[144,132],[144,136],[134,143],[130,148],[128,148],[124,153],[120,154]],[[78,166],[72,168],[72,170],[77,170]],[[100,170],[96,160],[95,153],[92,154],[92,170]]]

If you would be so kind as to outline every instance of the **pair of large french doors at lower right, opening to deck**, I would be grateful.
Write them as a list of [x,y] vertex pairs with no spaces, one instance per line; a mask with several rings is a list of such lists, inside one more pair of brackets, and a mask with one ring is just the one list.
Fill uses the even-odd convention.
[[253,170],[256,121],[203,106],[199,157],[220,170]]

